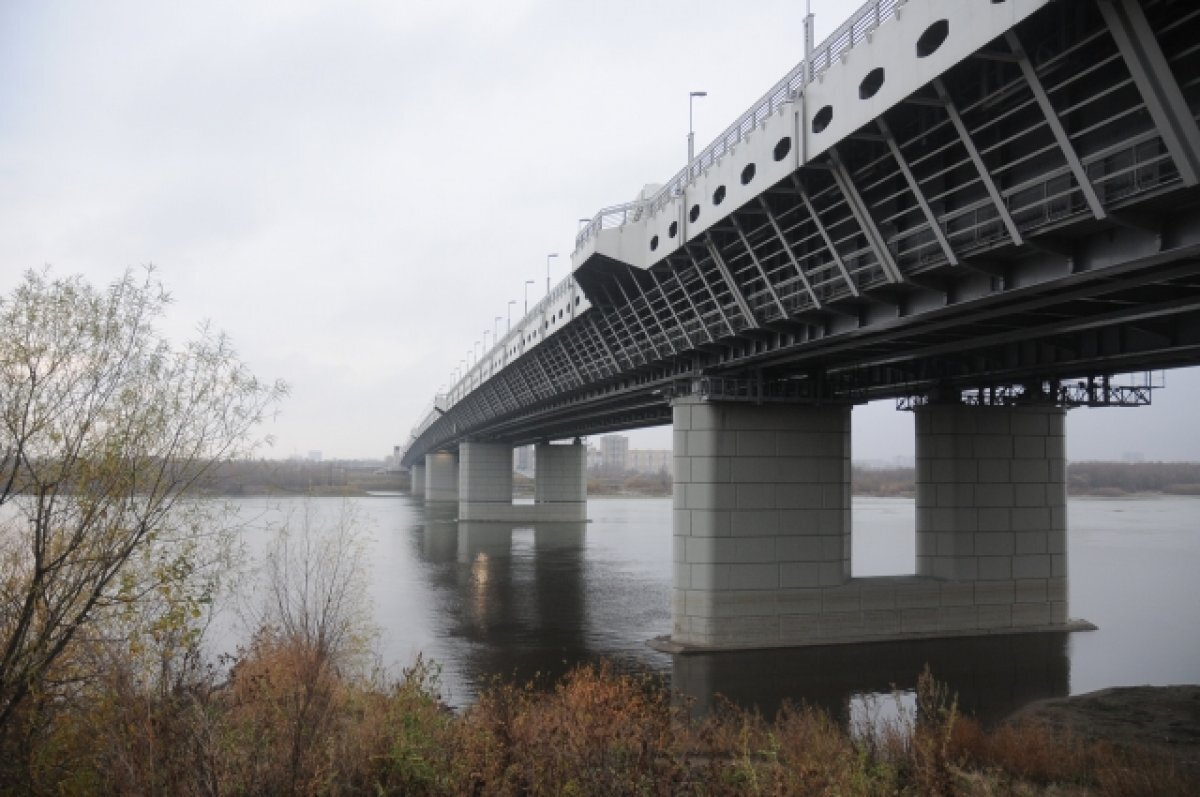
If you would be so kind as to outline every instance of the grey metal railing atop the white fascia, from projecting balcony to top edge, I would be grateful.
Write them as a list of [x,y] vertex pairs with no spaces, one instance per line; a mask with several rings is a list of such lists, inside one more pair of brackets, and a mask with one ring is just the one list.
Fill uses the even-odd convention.
[[[908,0],[868,0],[850,19],[838,26],[820,44],[808,61],[802,60],[792,67],[775,85],[757,100],[750,109],[725,128],[712,144],[701,150],[691,163],[679,169],[659,191],[648,199],[635,199],[622,205],[604,208],[592,217],[575,236],[575,248],[578,250],[601,229],[620,227],[630,221],[640,220],[646,212],[656,212],[672,199],[683,193],[689,182],[703,174],[721,156],[742,142],[755,127],[769,119],[785,102],[792,102],[806,83],[828,70],[842,53],[856,47],[876,28],[895,16],[896,10]],[[808,68],[811,62],[812,68]]]

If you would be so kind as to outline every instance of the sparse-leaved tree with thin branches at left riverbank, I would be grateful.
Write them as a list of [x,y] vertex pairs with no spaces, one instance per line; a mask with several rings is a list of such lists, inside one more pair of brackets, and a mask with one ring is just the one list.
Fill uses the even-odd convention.
[[106,613],[196,599],[191,491],[286,391],[206,328],[173,346],[169,301],[150,269],[107,290],[31,271],[0,299],[0,742],[86,676],[72,645]]

